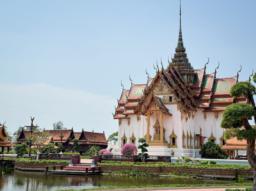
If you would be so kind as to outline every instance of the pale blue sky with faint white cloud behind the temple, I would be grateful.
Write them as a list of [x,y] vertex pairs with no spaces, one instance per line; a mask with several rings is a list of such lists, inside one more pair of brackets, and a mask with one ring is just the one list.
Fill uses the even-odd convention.
[[[217,77],[255,67],[256,1],[181,1],[182,37],[195,69]],[[179,0],[0,1],[0,122],[8,130],[51,129],[63,121],[75,132],[118,130],[114,105],[122,87],[167,68],[179,34]],[[253,83],[255,85],[255,83]],[[34,124],[34,125],[35,125]]]

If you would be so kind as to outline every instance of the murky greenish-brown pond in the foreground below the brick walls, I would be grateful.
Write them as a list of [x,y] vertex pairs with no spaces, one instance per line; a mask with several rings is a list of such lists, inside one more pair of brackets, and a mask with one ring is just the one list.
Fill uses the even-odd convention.
[[44,172],[0,169],[0,190],[47,190],[84,189],[107,186],[159,185],[159,184],[201,184],[253,182],[253,180],[219,180],[176,177],[133,177],[120,175],[70,176],[53,175]]

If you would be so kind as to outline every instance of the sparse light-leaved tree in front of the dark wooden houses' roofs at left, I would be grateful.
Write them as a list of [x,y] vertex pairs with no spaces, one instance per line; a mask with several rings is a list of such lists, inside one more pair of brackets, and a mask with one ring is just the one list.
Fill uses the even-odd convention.
[[[42,151],[42,147],[44,144],[49,141],[49,138],[52,135],[42,129],[35,129],[34,132],[28,137],[26,137],[27,142],[31,142],[32,147],[38,148],[39,152]],[[31,154],[31,148],[30,148],[30,154]]]

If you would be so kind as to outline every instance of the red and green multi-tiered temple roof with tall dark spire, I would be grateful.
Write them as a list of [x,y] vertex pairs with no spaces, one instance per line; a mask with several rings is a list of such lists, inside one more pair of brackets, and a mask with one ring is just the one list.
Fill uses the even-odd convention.
[[[119,119],[119,125],[120,119],[129,119],[128,115],[146,113],[147,106],[153,101],[158,104],[162,112],[169,113],[164,105],[167,97],[161,96],[160,91],[156,93],[154,90],[162,88],[159,84],[168,89],[165,90],[165,94],[168,92],[173,97],[180,111],[187,113],[197,110],[196,108],[203,108],[203,112],[224,111],[232,103],[245,103],[245,98],[233,98],[229,95],[231,87],[238,81],[238,73],[229,78],[216,78],[218,66],[214,72],[206,74],[206,64],[209,60],[202,69],[195,70],[191,66],[182,40],[181,9],[179,15],[179,38],[172,63],[169,63],[165,70],[163,66],[161,70],[157,69],[156,76],[154,78],[148,76],[145,84],[132,82],[129,90],[123,87],[113,114],[114,119]],[[152,96],[149,96],[150,94]]]

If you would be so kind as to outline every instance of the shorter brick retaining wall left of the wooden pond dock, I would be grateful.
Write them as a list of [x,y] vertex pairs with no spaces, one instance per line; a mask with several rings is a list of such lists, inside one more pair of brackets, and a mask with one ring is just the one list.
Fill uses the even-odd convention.
[[24,162],[15,162],[14,168],[19,170],[34,170],[34,171],[43,171],[45,166],[51,165],[63,165],[68,166],[68,163],[24,163]]

